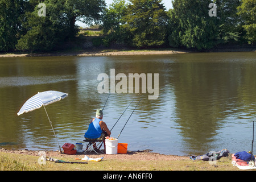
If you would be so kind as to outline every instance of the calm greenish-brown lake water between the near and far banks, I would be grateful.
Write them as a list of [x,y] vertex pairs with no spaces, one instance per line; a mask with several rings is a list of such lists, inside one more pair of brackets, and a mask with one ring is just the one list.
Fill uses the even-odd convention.
[[[159,97],[98,93],[100,73],[159,73]],[[82,142],[96,109],[128,150],[199,155],[250,151],[256,119],[256,53],[0,58],[0,147],[59,150],[43,108],[17,115],[38,92],[68,93],[46,106],[60,146]]]

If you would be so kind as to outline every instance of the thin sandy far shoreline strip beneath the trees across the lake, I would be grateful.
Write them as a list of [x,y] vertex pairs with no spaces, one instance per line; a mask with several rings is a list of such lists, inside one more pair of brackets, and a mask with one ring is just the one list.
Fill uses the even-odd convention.
[[220,48],[209,51],[187,49],[89,49],[81,51],[50,51],[37,53],[0,53],[0,57],[36,57],[36,56],[131,56],[131,55],[172,55],[181,53],[210,53],[210,52],[256,52],[256,48]]

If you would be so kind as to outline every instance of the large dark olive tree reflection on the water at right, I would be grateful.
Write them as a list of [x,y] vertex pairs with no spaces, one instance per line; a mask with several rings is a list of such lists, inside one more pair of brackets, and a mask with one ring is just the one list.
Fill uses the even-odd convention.
[[[191,55],[189,62],[180,63],[179,69],[174,74],[177,110],[179,110],[177,122],[186,145],[184,151],[187,153],[199,151],[204,154],[209,148],[227,147],[220,143],[230,138],[222,138],[221,142],[216,142],[216,137],[220,134],[219,129],[230,133],[228,128],[225,129],[226,111],[230,111],[232,116],[239,113],[238,115],[245,119],[248,110],[243,108],[249,103],[243,103],[246,101],[239,90],[245,89],[244,85],[249,84],[250,78],[247,78],[247,75],[254,78],[256,75],[255,63],[250,62],[250,68],[246,69],[247,61],[238,62],[237,59],[226,61],[226,57],[222,57],[222,61],[217,63],[212,59],[202,62],[197,56]],[[214,60],[216,59],[218,60],[218,57],[214,57]],[[245,84],[244,81],[247,83]],[[246,89],[247,92],[251,93],[251,89],[255,89],[255,84],[247,86],[250,87]],[[248,94],[246,96],[250,98],[250,102],[255,101],[255,96]],[[252,112],[255,116],[255,110]],[[233,119],[236,121],[241,118]],[[245,122],[251,122],[253,118],[246,118]],[[243,131],[245,130],[241,129],[244,135]],[[240,139],[237,134],[233,137]],[[217,144],[213,145],[213,143]],[[236,144],[231,144],[230,148],[234,149],[233,146]]]

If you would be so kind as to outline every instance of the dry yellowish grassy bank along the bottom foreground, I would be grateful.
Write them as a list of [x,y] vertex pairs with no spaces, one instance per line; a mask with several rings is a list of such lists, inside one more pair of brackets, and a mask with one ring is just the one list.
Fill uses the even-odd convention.
[[[74,156],[73,156],[74,158]],[[234,171],[239,170],[231,163],[230,157],[217,160],[215,165],[205,161],[195,161],[189,158],[178,160],[127,160],[103,159],[101,162],[88,164],[61,164],[46,161],[45,165],[38,163],[39,156],[10,154],[0,152],[1,171]],[[72,155],[58,158],[68,162],[77,162]],[[81,162],[81,160],[79,160]],[[82,161],[84,162],[84,161]]]

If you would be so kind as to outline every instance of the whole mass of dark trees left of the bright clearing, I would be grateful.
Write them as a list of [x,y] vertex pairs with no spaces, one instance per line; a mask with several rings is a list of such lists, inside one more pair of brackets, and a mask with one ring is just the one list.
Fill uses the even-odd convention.
[[78,32],[77,19],[100,19],[104,0],[46,0],[46,16],[39,16],[40,1],[0,0],[0,51],[47,51]]

